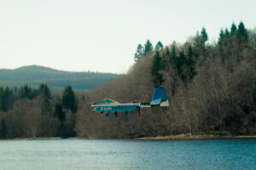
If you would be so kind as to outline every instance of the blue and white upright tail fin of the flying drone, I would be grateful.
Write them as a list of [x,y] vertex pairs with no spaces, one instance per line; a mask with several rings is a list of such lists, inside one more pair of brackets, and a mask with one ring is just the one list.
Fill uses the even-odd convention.
[[150,103],[152,106],[169,106],[165,88],[154,88],[154,94]]

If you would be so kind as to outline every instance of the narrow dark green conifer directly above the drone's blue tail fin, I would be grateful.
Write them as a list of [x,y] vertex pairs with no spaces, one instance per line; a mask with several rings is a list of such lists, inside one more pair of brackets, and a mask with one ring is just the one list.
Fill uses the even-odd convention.
[[154,87],[160,87],[163,82],[163,76],[159,72],[161,69],[160,52],[156,51],[151,69],[151,75],[154,77]]

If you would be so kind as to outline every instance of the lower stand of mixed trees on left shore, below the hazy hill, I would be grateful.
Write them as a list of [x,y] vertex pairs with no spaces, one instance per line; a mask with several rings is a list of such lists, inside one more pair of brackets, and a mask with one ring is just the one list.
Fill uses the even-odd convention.
[[47,84],[0,87],[0,138],[73,137],[77,102],[71,86],[59,93]]

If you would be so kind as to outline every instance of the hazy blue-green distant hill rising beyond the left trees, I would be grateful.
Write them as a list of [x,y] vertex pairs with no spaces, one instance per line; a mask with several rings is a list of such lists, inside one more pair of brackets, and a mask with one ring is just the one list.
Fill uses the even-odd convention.
[[0,69],[0,86],[19,88],[27,84],[38,87],[40,83],[47,83],[49,88],[54,90],[64,88],[67,84],[76,90],[89,90],[116,77],[119,75],[90,71],[58,71],[49,67],[29,65],[14,70]]

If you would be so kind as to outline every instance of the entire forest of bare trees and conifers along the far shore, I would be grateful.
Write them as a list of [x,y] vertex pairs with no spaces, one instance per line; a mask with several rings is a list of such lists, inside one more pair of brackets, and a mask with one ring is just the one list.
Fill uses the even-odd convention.
[[[208,42],[206,28],[183,44],[139,44],[127,74],[81,92],[23,85],[0,88],[0,138],[134,139],[176,134],[256,134],[256,29],[242,22]],[[166,89],[169,107],[109,119],[90,106],[109,98],[148,102]]]

